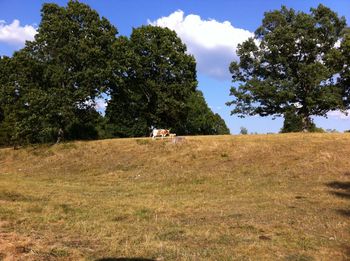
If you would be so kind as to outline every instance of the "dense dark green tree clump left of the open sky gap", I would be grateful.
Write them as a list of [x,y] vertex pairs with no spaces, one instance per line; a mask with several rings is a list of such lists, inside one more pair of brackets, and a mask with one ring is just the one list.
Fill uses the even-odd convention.
[[[130,37],[78,1],[44,4],[33,41],[0,57],[0,145],[178,134],[228,134],[197,89],[196,62],[174,31]],[[96,99],[109,97],[105,115]]]

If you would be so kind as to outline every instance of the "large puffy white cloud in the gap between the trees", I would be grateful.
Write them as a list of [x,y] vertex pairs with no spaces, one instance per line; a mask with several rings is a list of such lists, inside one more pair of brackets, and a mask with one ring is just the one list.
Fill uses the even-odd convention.
[[253,36],[229,21],[203,20],[194,14],[184,16],[181,10],[148,23],[176,31],[188,53],[196,58],[198,72],[224,80],[230,79],[230,63],[238,60],[237,45]]

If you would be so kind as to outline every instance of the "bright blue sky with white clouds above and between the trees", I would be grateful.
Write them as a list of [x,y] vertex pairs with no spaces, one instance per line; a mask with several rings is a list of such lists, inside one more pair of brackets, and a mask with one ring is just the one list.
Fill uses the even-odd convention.
[[[0,0],[0,55],[11,56],[32,40],[41,20],[43,3],[65,6],[66,0]],[[320,3],[330,7],[350,23],[349,0],[86,0],[81,1],[106,17],[118,30],[118,35],[129,36],[132,28],[157,25],[175,30],[187,45],[187,52],[197,62],[198,89],[210,108],[221,115],[232,134],[240,127],[249,133],[277,133],[283,119],[271,117],[238,118],[230,115],[232,100],[230,88],[234,84],[228,71],[231,61],[237,60],[237,44],[253,35],[260,26],[264,12],[285,5],[309,12]],[[103,109],[103,102],[99,108]],[[339,111],[328,113],[327,118],[314,117],[318,127],[344,131],[350,129],[350,114]]]

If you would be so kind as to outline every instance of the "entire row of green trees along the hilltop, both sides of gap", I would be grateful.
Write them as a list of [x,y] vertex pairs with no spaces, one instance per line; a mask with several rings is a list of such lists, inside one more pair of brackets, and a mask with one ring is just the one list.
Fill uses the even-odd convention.
[[[44,4],[33,41],[0,57],[0,145],[178,134],[228,134],[197,89],[196,62],[174,31],[130,37],[88,5]],[[264,14],[229,67],[232,114],[284,117],[282,132],[318,131],[312,116],[350,109],[350,29],[324,5]],[[105,115],[96,99],[109,97]]]

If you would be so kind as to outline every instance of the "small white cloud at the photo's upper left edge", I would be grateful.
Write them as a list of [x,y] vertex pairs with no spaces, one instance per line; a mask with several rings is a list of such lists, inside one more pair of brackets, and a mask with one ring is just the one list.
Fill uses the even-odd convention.
[[15,19],[11,24],[0,20],[0,42],[14,45],[23,45],[26,40],[34,40],[36,29],[31,25],[21,26],[19,20]]

